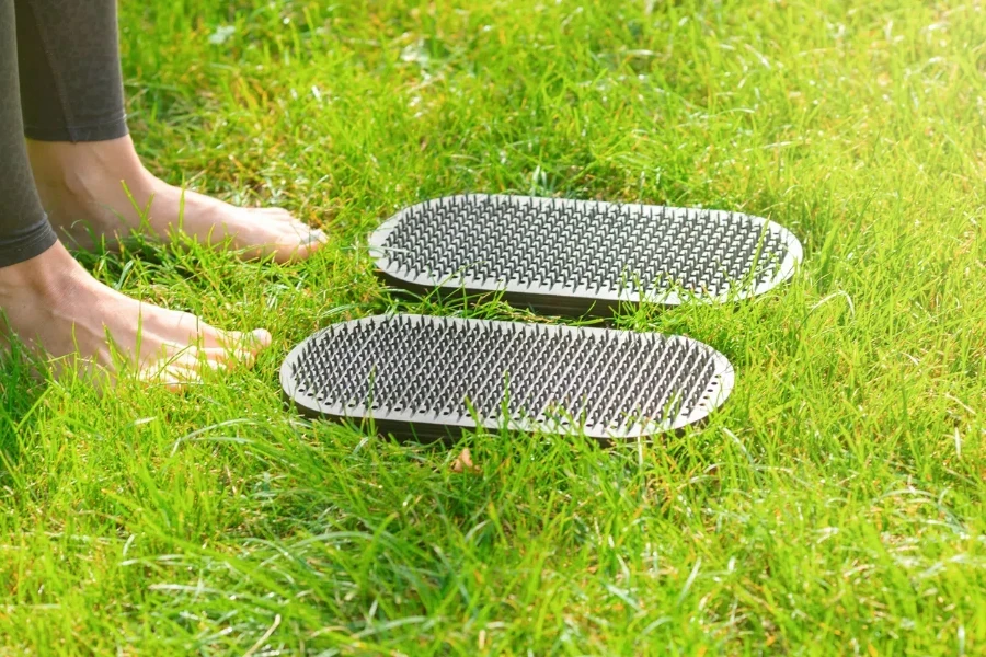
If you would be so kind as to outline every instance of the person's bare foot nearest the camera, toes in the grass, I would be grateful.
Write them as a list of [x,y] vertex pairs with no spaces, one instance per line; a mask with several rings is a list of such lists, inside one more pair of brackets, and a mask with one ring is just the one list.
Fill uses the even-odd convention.
[[67,367],[112,377],[125,364],[172,390],[198,381],[204,368],[249,367],[271,343],[266,331],[219,331],[193,314],[121,295],[90,276],[61,243],[0,268],[0,308],[7,320],[0,331],[69,360]]

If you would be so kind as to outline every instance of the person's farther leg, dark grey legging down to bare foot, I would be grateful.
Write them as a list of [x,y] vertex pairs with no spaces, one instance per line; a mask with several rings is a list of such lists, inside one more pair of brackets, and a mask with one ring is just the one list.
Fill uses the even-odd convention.
[[303,260],[325,241],[285,210],[183,191],[141,164],[124,117],[115,0],[15,2],[28,153],[60,235],[89,246],[91,237],[180,230],[278,262]]

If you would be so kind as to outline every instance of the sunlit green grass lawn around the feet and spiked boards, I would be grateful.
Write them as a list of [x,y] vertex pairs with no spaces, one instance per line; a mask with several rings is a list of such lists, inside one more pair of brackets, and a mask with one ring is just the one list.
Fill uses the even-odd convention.
[[[5,366],[0,653],[986,652],[981,3],[147,0],[121,20],[151,168],[334,241],[290,267],[83,258],[275,345],[183,396]],[[753,301],[618,319],[735,365],[681,436],[446,450],[286,411],[277,367],[313,330],[465,312],[389,295],[365,235],[466,191],[748,211],[805,263]],[[465,446],[480,474],[449,471]]]

